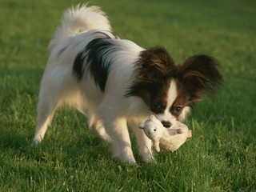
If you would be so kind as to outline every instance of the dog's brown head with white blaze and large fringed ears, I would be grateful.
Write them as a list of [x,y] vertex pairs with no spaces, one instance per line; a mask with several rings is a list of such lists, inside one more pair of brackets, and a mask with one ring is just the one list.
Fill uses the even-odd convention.
[[142,51],[136,63],[134,82],[127,95],[143,99],[166,128],[184,119],[205,93],[214,93],[222,84],[218,62],[207,55],[195,55],[183,64],[161,46]]

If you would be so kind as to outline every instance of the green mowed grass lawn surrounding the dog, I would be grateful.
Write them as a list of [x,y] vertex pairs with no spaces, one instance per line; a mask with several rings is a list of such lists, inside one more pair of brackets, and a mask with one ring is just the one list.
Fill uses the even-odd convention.
[[175,62],[210,54],[224,84],[186,120],[193,131],[157,165],[110,158],[86,118],[55,114],[42,145],[30,147],[46,49],[62,11],[78,0],[0,1],[0,191],[255,191],[256,2],[90,1],[102,6],[114,34],[143,47],[165,46]]

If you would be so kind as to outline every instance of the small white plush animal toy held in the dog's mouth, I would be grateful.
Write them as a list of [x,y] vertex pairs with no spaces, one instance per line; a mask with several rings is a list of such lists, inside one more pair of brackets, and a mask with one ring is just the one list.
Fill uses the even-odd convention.
[[140,124],[139,127],[152,140],[157,152],[160,151],[160,148],[174,152],[186,142],[186,138],[192,137],[191,130],[182,122],[177,122],[173,129],[167,129],[154,115],[150,115],[150,118]]

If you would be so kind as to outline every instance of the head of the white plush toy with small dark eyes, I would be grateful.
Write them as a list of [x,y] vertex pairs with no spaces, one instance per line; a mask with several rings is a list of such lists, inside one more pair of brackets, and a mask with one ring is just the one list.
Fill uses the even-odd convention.
[[153,141],[162,138],[162,122],[155,118],[154,115],[150,115],[150,118],[146,122],[141,123],[139,128],[143,129],[146,136]]

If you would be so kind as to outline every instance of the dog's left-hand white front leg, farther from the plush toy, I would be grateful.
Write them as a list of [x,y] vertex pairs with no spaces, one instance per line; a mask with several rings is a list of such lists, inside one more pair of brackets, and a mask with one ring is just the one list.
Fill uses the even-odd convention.
[[106,128],[106,132],[113,140],[113,158],[118,158],[124,162],[135,163],[126,118],[103,118],[102,122]]

